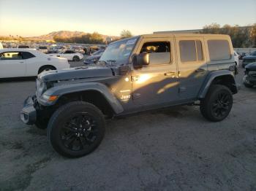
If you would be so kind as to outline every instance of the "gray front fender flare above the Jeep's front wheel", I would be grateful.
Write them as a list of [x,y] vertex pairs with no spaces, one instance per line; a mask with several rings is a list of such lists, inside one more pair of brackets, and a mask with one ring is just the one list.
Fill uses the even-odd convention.
[[[115,95],[113,95],[113,93],[110,92],[108,87],[106,87],[105,85],[99,82],[86,82],[86,83],[77,83],[77,84],[69,84],[69,85],[59,85],[56,87],[52,87],[49,90],[46,90],[44,94],[58,95],[58,99],[59,99],[62,95],[65,95],[67,93],[76,93],[76,92],[81,92],[86,90],[95,90],[101,93],[106,98],[106,100],[108,101],[108,103],[110,104],[110,106],[112,107],[113,111],[116,114],[124,111],[123,107],[121,106],[121,104],[119,103]],[[42,104],[43,106],[52,106],[56,103],[56,101],[58,101],[58,99],[56,99],[56,101],[48,101],[42,98],[42,96],[37,99],[39,104]]]

